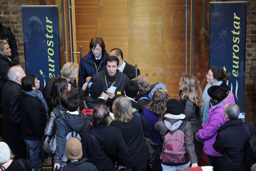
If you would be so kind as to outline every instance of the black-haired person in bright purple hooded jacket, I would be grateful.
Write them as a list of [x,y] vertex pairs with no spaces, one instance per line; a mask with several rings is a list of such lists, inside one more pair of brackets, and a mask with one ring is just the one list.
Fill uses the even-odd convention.
[[218,128],[226,123],[223,114],[223,108],[226,104],[235,103],[232,92],[223,89],[220,86],[212,86],[208,89],[208,95],[211,99],[211,107],[203,128],[198,131],[196,138],[203,141],[203,151],[207,154],[209,164],[213,166],[214,171],[219,171],[222,161],[222,154],[213,148]]

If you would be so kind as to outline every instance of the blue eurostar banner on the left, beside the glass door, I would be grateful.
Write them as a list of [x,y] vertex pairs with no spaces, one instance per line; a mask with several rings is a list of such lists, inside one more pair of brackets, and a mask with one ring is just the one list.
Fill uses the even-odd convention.
[[40,91],[60,74],[58,6],[21,6],[26,74],[40,80]]

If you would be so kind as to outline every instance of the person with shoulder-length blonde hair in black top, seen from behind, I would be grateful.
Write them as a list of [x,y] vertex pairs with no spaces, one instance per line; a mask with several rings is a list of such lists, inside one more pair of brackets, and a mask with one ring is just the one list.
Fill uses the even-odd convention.
[[119,97],[114,100],[114,121],[111,126],[121,130],[125,144],[129,148],[129,161],[126,171],[146,171],[148,161],[148,147],[142,129],[142,122],[137,115],[133,115],[130,99]]

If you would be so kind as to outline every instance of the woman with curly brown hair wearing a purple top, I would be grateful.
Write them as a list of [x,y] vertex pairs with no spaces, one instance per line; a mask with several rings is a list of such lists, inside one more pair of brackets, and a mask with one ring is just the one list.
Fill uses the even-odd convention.
[[169,95],[166,90],[161,88],[155,90],[153,93],[152,100],[148,105],[143,107],[142,115],[151,124],[151,135],[150,138],[153,142],[160,144],[160,134],[155,130],[155,123],[159,120],[160,116],[165,114],[166,103],[169,100]]

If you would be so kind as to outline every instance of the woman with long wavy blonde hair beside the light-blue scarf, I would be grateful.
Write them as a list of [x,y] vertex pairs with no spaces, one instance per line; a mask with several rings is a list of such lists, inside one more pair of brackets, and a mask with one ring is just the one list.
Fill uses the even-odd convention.
[[200,108],[203,106],[202,89],[197,78],[193,75],[182,75],[179,82],[181,102],[185,107],[186,119],[191,123],[197,159],[202,156],[203,144],[195,136],[202,128]]

